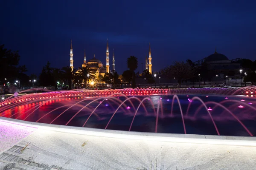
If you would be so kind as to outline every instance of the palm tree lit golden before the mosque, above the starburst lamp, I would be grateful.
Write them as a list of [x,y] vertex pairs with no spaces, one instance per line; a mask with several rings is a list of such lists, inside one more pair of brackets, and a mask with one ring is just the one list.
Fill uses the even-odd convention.
[[76,71],[75,79],[81,80],[84,84],[87,84],[88,80],[95,80],[97,77],[95,75],[95,71],[88,67],[83,67]]

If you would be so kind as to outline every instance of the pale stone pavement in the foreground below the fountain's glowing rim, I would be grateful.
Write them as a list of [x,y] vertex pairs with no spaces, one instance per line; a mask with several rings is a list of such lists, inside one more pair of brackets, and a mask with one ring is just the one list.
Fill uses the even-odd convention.
[[256,170],[256,147],[115,139],[6,122],[0,130],[0,170]]

